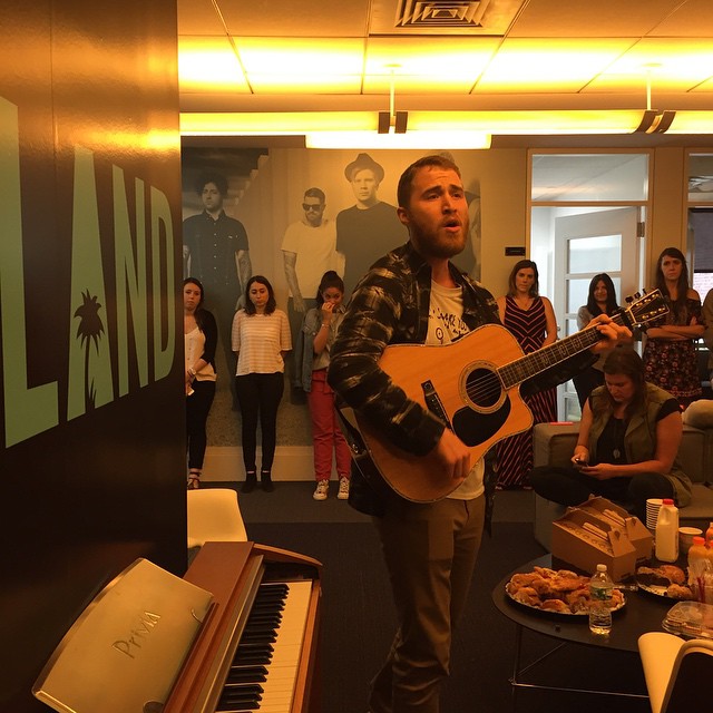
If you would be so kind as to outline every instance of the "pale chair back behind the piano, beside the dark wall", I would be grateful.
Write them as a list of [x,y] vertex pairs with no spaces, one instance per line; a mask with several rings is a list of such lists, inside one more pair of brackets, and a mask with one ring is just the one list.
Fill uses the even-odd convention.
[[186,490],[188,497],[188,548],[207,541],[246,543],[247,533],[237,492],[226,488]]

